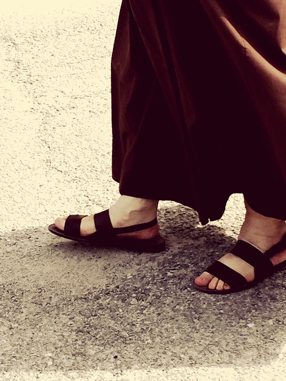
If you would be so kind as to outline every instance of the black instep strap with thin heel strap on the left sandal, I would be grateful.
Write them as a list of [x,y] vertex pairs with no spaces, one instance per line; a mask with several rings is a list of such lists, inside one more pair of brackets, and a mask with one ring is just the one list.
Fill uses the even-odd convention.
[[109,209],[103,210],[102,212],[96,213],[93,216],[96,231],[102,234],[121,234],[121,233],[132,233],[138,232],[140,230],[148,229],[149,227],[155,226],[158,221],[155,217],[152,221],[145,222],[142,224],[124,226],[124,227],[113,227],[110,221]]

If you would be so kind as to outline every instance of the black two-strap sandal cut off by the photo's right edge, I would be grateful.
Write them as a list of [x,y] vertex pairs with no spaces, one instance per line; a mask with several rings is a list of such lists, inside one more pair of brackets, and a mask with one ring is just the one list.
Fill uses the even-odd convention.
[[239,292],[254,287],[257,283],[262,282],[267,277],[275,274],[278,271],[286,269],[286,260],[277,265],[273,265],[270,258],[280,253],[280,251],[286,248],[286,234],[283,235],[278,243],[275,243],[272,247],[266,250],[264,253],[255,248],[248,242],[238,240],[235,246],[228,251],[228,253],[234,254],[243,259],[247,263],[254,267],[254,280],[248,282],[243,275],[237,271],[231,269],[227,265],[219,261],[214,261],[206,270],[215,277],[223,280],[230,286],[228,290],[211,290],[209,285],[198,286],[193,281],[193,287],[198,291],[202,291],[208,294],[229,294],[233,292]]

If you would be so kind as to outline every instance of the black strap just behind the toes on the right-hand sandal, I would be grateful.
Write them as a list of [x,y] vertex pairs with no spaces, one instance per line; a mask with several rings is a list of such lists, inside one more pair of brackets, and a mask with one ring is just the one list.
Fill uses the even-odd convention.
[[223,282],[227,283],[231,288],[242,287],[247,283],[247,279],[245,279],[243,275],[219,261],[214,261],[204,271],[223,280]]

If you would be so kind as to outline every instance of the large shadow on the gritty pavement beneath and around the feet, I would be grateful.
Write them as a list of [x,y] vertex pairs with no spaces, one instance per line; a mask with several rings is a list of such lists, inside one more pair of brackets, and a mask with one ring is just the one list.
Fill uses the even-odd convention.
[[283,273],[237,294],[199,293],[194,277],[235,240],[182,205],[158,210],[158,221],[167,248],[156,254],[94,248],[46,227],[3,235],[1,370],[273,362],[285,336]]

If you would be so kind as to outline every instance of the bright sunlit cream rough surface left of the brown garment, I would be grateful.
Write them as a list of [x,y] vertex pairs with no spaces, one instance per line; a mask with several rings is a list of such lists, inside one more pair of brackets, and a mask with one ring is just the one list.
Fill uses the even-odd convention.
[[120,5],[12,1],[1,10],[0,231],[95,213],[118,197],[110,66]]

